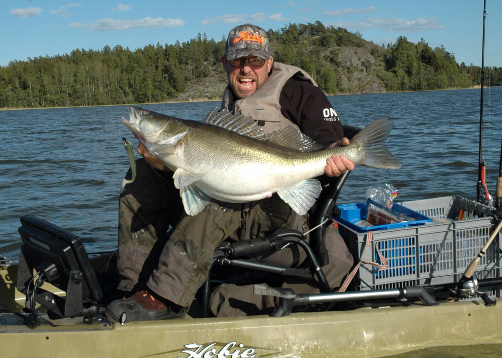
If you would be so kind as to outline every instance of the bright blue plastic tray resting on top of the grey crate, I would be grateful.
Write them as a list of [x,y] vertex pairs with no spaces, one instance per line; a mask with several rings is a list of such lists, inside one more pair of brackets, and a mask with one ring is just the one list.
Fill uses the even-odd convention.
[[398,213],[403,213],[410,218],[416,219],[416,221],[408,221],[404,223],[395,223],[395,224],[386,224],[386,225],[376,225],[370,227],[361,227],[355,225],[355,223],[363,220],[364,213],[366,211],[366,203],[357,203],[357,204],[346,204],[339,205],[338,208],[341,211],[341,216],[335,219],[342,225],[345,225],[352,230],[357,231],[358,233],[364,233],[367,231],[375,231],[375,230],[390,230],[390,229],[398,229],[398,228],[407,228],[409,226],[417,226],[423,225],[425,223],[431,222],[432,219],[417,213],[411,209],[408,209],[402,205],[394,204],[392,206],[392,210],[397,211]]

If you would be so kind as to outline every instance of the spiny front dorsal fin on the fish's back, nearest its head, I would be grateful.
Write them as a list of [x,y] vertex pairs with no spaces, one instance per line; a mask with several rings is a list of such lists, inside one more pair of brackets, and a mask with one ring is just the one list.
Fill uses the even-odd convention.
[[213,109],[204,118],[204,123],[216,125],[247,137],[260,140],[267,139],[263,129],[256,124],[253,118],[240,113],[232,114],[226,109],[221,111],[218,111],[217,108]]

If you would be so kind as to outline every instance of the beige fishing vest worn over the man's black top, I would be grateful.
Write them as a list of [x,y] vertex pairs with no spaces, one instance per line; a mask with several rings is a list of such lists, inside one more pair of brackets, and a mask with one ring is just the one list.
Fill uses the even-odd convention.
[[266,135],[281,130],[287,126],[293,126],[297,130],[300,128],[284,117],[281,113],[279,97],[286,82],[293,76],[298,76],[317,87],[317,83],[301,68],[285,65],[279,62],[274,63],[272,74],[265,83],[252,95],[234,101],[233,93],[228,85],[223,93],[221,109],[228,109],[231,112],[238,112],[251,116],[262,126]]

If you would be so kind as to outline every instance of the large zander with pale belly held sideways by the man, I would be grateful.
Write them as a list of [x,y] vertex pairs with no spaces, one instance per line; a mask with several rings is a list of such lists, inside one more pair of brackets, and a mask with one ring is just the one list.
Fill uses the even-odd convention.
[[314,177],[324,173],[326,159],[333,154],[355,164],[401,167],[382,144],[392,129],[388,117],[367,125],[349,145],[324,149],[293,127],[266,136],[250,117],[227,111],[213,110],[199,122],[131,106],[129,116],[121,122],[173,170],[189,215],[202,211],[211,198],[245,203],[276,192],[303,215],[321,193]]

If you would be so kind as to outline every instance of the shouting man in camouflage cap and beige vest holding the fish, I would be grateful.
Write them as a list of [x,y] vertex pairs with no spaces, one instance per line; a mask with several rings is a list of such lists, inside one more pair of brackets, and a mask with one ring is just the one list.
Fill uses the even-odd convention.
[[[250,24],[232,29],[221,62],[228,77],[222,109],[252,116],[266,134],[291,125],[325,147],[348,144],[336,112],[314,80],[299,68],[273,64],[263,29]],[[111,320],[118,320],[122,312],[128,321],[183,317],[222,241],[260,237],[282,228],[302,231],[307,225],[308,216],[296,214],[277,195],[244,204],[213,200],[199,214],[188,216],[172,172],[142,144],[138,152],[144,160],[137,161],[136,180],[120,192],[119,204],[118,289],[132,296],[108,305]],[[353,168],[346,158],[327,158],[321,181]],[[174,230],[168,240],[169,226]],[[343,241],[334,235],[327,245],[330,263],[323,268],[332,287],[352,265]],[[258,259],[298,266],[304,256],[302,250],[288,247]],[[249,296],[248,290],[221,285],[212,295],[213,313],[247,314],[228,299],[235,295],[246,297],[256,312],[273,305],[265,296]]]

